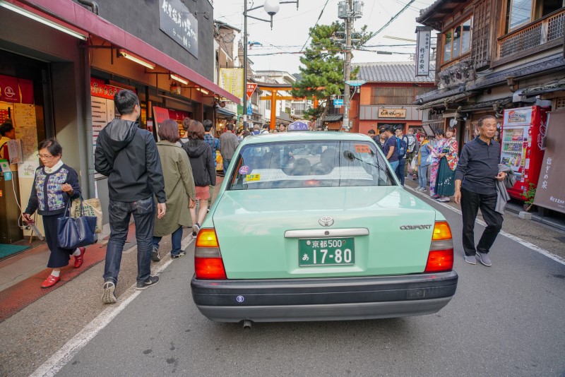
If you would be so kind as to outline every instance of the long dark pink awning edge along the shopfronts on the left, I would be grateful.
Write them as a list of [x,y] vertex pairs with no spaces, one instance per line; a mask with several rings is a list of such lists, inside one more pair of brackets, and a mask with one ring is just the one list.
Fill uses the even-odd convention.
[[[18,5],[20,1],[8,0]],[[206,90],[210,90],[215,95],[225,97],[237,104],[241,103],[241,98],[235,97],[230,92],[223,90],[212,81],[208,80],[200,73],[191,70],[179,61],[172,59],[167,54],[160,52],[150,44],[143,42],[138,37],[129,34],[126,30],[119,28],[117,25],[96,16],[94,13],[83,8],[80,4],[76,4],[72,0],[23,0],[22,3],[29,4],[38,10],[47,13],[49,16],[55,16],[70,25],[75,26],[85,32],[97,35],[117,47],[133,52],[142,56],[163,68],[176,73],[179,76],[191,80],[191,82],[200,85]]]

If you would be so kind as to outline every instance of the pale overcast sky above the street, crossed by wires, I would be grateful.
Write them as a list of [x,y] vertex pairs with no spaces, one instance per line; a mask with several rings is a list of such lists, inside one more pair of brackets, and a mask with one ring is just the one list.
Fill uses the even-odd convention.
[[[228,23],[242,30],[244,0],[213,0],[214,19]],[[299,0],[296,4],[280,4],[280,11],[273,16],[273,30],[270,24],[247,18],[248,42],[258,42],[248,50],[253,61],[254,71],[299,72],[299,52],[308,47],[309,28],[316,25],[329,25],[338,18],[338,3],[342,0]],[[427,8],[435,0],[415,0],[393,22],[366,44],[371,51],[354,51],[353,63],[376,61],[410,61],[416,43],[393,39],[415,40],[415,18],[420,9]],[[368,32],[376,32],[404,8],[410,0],[365,0],[363,16],[355,20],[355,30],[367,25]],[[248,1],[248,8],[264,4],[263,0]],[[248,13],[249,16],[268,19],[263,8]],[[304,47],[304,48],[305,48]],[[377,54],[376,51],[393,52]]]

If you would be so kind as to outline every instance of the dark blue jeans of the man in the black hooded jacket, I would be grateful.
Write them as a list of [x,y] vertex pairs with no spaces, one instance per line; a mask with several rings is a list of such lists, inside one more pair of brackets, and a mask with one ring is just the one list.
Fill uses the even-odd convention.
[[153,196],[135,202],[112,201],[108,206],[110,239],[106,248],[104,281],[118,282],[121,253],[128,236],[129,219],[133,215],[136,223],[137,240],[137,282],[145,282],[151,272],[151,250],[155,204]]

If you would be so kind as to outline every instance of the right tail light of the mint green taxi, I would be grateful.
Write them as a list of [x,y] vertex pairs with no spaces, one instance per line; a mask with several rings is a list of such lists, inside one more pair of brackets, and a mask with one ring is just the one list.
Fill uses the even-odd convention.
[[429,245],[428,261],[424,273],[440,273],[453,270],[453,238],[446,221],[434,225],[432,244]]

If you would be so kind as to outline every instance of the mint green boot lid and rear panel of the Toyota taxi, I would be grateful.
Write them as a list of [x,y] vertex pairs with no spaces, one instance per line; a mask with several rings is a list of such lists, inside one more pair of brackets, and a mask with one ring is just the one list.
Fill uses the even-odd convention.
[[[209,215],[203,227],[216,230],[228,279],[422,273],[434,222],[444,220],[400,186],[224,191]],[[326,216],[331,227],[319,224]],[[355,265],[299,267],[298,238],[285,238],[289,230],[352,228],[369,232],[355,237]]]

